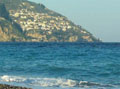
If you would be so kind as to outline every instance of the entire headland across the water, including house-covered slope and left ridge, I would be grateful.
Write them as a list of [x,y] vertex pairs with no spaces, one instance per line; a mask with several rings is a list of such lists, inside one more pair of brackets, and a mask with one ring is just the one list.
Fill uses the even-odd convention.
[[[8,4],[9,3],[9,4]],[[92,33],[43,4],[0,0],[0,41],[99,42]]]

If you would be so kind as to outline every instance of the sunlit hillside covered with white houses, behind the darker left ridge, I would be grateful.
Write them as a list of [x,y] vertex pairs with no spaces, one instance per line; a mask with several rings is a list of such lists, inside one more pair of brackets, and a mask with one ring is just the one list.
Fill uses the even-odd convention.
[[[21,26],[22,31],[19,31],[26,38],[23,41],[98,41],[90,32],[75,25],[65,16],[49,10],[43,4],[36,4],[27,0],[0,0],[0,2],[5,4],[12,21]],[[10,18],[7,18],[7,20]]]

